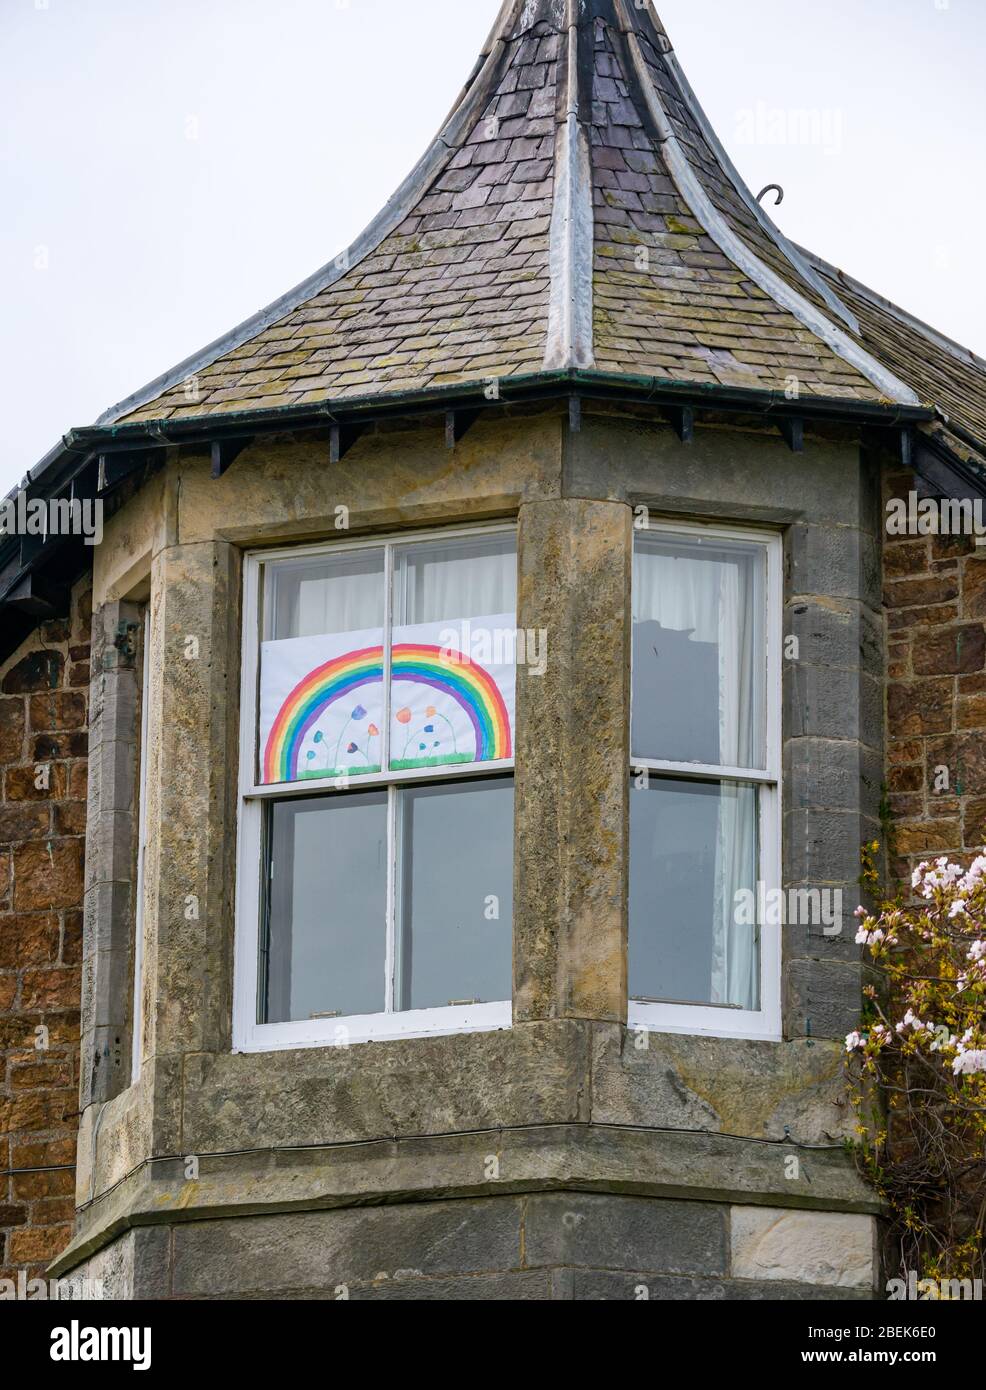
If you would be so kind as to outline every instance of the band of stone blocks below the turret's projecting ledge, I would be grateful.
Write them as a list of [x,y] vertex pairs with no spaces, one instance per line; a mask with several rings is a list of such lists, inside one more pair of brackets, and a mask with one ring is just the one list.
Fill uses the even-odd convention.
[[139,1227],[76,1277],[107,1298],[868,1300],[875,1220],[534,1193]]

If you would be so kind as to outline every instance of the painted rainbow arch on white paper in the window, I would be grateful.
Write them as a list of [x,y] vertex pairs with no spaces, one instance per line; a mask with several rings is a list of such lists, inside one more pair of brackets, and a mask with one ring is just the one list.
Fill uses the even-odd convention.
[[[469,656],[430,644],[403,642],[391,652],[392,682],[409,681],[428,685],[452,699],[467,716],[476,735],[474,762],[491,762],[512,756],[510,716],[494,677]],[[310,671],[293,688],[271,726],[264,748],[264,783],[299,781],[302,749],[309,733],[338,701],[355,691],[382,682],[384,649],[366,646],[325,662]],[[421,760],[426,764],[426,760]],[[402,762],[401,766],[413,766]],[[334,770],[323,776],[331,776]]]

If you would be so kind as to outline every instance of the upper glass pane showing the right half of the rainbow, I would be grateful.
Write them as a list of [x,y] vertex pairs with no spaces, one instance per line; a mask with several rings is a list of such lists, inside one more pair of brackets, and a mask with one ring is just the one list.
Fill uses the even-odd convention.
[[515,538],[399,549],[394,582],[391,767],[512,758]]

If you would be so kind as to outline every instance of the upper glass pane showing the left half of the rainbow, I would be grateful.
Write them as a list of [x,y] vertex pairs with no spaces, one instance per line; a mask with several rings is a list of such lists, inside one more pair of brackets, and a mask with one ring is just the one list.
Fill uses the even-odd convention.
[[384,552],[268,566],[260,781],[377,773],[384,727]]

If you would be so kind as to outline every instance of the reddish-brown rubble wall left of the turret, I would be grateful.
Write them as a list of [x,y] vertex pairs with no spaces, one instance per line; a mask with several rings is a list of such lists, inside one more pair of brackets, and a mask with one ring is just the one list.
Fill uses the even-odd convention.
[[0,1277],[72,1234],[90,598],[0,667]]

